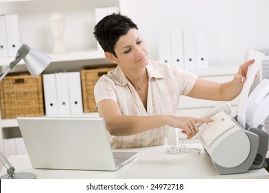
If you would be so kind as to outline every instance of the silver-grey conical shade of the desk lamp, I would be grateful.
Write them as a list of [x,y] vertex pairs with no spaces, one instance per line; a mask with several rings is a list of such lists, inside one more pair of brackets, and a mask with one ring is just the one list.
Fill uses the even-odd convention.
[[52,58],[46,54],[38,52],[37,50],[30,49],[28,54],[23,57],[23,60],[32,77],[37,77],[48,67]]

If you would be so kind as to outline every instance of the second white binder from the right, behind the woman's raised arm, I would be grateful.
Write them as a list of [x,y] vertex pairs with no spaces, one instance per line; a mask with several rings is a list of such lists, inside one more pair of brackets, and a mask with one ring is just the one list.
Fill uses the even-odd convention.
[[183,30],[184,64],[186,70],[196,70],[195,30]]

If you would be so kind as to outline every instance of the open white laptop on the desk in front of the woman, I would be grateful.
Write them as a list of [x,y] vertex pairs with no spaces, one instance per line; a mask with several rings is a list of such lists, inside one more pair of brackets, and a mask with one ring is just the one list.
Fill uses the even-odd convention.
[[116,171],[137,152],[112,152],[103,118],[18,117],[32,167]]

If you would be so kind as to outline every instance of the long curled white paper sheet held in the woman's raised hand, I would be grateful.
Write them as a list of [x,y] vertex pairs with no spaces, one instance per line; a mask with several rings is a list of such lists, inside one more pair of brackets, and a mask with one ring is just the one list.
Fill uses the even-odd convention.
[[255,79],[255,75],[257,74],[259,67],[261,66],[263,57],[264,54],[256,50],[249,50],[248,52],[248,60],[255,59],[255,62],[248,67],[246,81],[243,85],[243,90],[240,94],[239,99],[237,121],[243,128],[246,128],[246,105],[248,102],[248,94],[250,92],[251,85]]

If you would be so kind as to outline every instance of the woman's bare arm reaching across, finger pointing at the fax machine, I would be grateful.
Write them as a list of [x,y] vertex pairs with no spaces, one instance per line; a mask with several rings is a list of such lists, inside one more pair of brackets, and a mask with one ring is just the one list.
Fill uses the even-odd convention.
[[[128,116],[122,115],[119,105],[113,100],[103,100],[98,104],[98,112],[106,122],[108,132],[116,136],[124,136],[145,132],[163,125],[172,128],[181,128],[188,139],[197,134],[199,129],[197,123],[208,123],[212,119],[196,119],[192,117],[181,117],[171,115],[159,116]],[[190,128],[193,127],[193,130]]]

